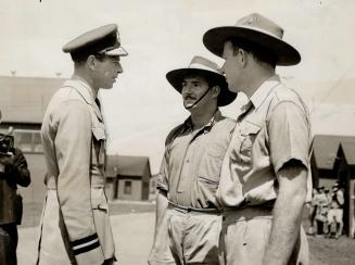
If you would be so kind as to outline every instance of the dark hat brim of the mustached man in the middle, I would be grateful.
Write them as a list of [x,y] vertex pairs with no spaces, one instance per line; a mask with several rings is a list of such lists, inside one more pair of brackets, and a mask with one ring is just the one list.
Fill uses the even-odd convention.
[[218,84],[218,86],[220,87],[220,92],[217,101],[218,106],[228,105],[237,98],[237,93],[228,90],[228,84],[226,81],[226,78],[223,75],[216,74],[211,71],[199,68],[173,70],[166,74],[166,79],[179,93],[181,93],[183,78],[192,75],[202,76],[208,80],[213,79],[216,84]]

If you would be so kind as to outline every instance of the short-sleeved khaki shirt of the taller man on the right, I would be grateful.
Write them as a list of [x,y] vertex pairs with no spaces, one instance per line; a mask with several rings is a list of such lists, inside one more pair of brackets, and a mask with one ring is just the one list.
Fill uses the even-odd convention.
[[277,75],[250,98],[237,119],[224,159],[217,198],[224,206],[242,207],[277,198],[276,174],[291,160],[308,169],[307,200],[312,179],[309,115],[305,103]]

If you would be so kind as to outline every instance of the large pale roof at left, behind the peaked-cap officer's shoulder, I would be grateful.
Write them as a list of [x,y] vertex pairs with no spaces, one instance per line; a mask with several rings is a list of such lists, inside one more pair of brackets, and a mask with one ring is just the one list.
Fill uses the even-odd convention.
[[0,76],[3,122],[41,123],[47,104],[63,78]]

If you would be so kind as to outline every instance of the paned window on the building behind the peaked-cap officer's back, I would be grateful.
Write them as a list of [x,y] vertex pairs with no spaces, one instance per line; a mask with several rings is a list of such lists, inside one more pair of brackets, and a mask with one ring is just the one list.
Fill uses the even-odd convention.
[[43,148],[39,130],[15,129],[15,147],[27,153],[42,153]]

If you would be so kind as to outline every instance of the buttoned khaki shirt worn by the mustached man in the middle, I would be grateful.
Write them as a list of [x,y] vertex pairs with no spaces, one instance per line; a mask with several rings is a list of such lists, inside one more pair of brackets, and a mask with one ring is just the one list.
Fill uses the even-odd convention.
[[188,118],[168,135],[157,180],[168,200],[181,206],[219,207],[215,192],[234,122],[217,111],[203,128]]

